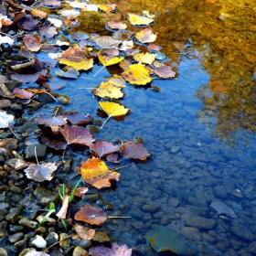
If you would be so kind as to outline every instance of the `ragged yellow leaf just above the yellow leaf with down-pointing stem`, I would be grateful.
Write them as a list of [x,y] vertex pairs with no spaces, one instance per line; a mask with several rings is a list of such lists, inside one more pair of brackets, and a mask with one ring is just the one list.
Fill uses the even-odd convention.
[[102,81],[101,85],[98,88],[92,90],[92,93],[101,98],[107,97],[111,99],[119,99],[123,97],[123,92],[121,90],[121,87],[116,87],[107,81]]

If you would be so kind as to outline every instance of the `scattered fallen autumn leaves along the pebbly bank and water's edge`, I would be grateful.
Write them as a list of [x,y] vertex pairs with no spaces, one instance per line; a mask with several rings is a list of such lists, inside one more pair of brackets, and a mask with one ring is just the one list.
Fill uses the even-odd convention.
[[[162,61],[166,59],[165,54],[161,53],[161,48],[154,43],[157,36],[150,27],[155,23],[154,15],[145,11],[143,16],[127,14],[127,23],[130,23],[130,26],[141,27],[138,32],[126,30],[126,24],[112,20],[106,24],[106,28],[112,31],[112,36],[95,37],[70,32],[69,37],[63,37],[63,29],[78,25],[77,17],[81,12],[106,12],[112,17],[116,12],[116,5],[90,5],[59,0],[29,3],[30,6],[17,5],[11,0],[6,0],[0,5],[0,125],[1,128],[12,131],[10,136],[15,137],[12,140],[17,144],[14,148],[21,142],[31,144],[31,133],[13,131],[12,127],[14,128],[16,121],[22,118],[22,112],[13,111],[11,106],[15,103],[28,111],[37,111],[42,105],[59,100],[59,94],[52,91],[61,88],[56,87],[56,78],[74,80],[79,78],[81,73],[90,78],[95,63],[98,63],[96,67],[101,63],[101,69],[114,65],[123,69],[121,73],[113,74],[91,90],[101,110],[108,115],[105,123],[111,117],[124,116],[129,112],[129,109],[120,103],[126,82],[129,86],[149,87],[155,78],[175,78],[176,72]],[[65,8],[62,8],[63,6]],[[52,11],[58,12],[59,16],[52,16]],[[43,59],[40,58],[42,53]],[[49,75],[49,69],[53,68],[56,69],[56,77]],[[99,75],[101,69],[94,76]],[[42,96],[48,97],[48,101],[39,101]],[[65,101],[66,103],[68,102]],[[88,125],[93,123],[93,118],[88,114],[62,112],[59,106],[54,115],[38,114],[31,122],[37,123],[39,127],[38,131],[34,131],[36,158],[37,144],[45,144],[55,151],[62,151],[63,155],[70,147],[83,147],[88,159],[77,163],[76,171],[91,187],[111,187],[112,181],[119,180],[120,173],[116,172],[117,169],[109,169],[107,162],[119,164],[123,159],[145,161],[150,156],[144,145],[138,141],[112,144],[94,139],[87,129]],[[3,146],[5,147],[5,144]],[[54,178],[54,173],[59,171],[56,163],[32,163],[17,159],[14,160],[13,168],[24,169],[27,178],[37,182],[49,181]],[[76,196],[80,197],[87,191],[88,187],[79,187]],[[67,195],[62,199],[62,208],[57,214],[59,219],[66,219],[69,197]],[[83,228],[79,224],[80,221],[100,225],[106,221],[107,216],[101,208],[91,206],[80,208],[74,219],[78,221],[74,229],[80,238],[91,240],[95,230]],[[119,247],[112,244],[112,249],[95,247],[91,248],[90,253],[131,255],[131,251],[125,245]],[[30,253],[29,255],[34,255],[33,251]]]

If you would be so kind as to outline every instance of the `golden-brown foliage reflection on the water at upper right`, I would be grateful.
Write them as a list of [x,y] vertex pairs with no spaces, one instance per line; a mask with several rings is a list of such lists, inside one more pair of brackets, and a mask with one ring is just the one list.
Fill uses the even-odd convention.
[[[94,1],[98,4],[104,1]],[[194,58],[201,60],[210,75],[208,85],[196,91],[204,102],[201,122],[217,124],[213,133],[229,137],[240,128],[256,131],[256,8],[251,0],[116,0],[116,14],[101,14],[97,24],[86,26],[99,33],[105,21],[113,18],[129,25],[127,13],[156,14],[152,27],[162,51],[178,63],[179,50],[192,40]],[[103,22],[102,19],[105,21]],[[86,24],[83,22],[83,24]],[[128,27],[129,29],[129,27]],[[134,27],[133,27],[134,31]],[[105,34],[108,34],[108,32]],[[196,51],[197,49],[197,51]],[[191,48],[190,48],[191,50]],[[197,54],[196,54],[197,53]],[[190,52],[191,58],[191,52]],[[254,80],[253,80],[254,74]]]

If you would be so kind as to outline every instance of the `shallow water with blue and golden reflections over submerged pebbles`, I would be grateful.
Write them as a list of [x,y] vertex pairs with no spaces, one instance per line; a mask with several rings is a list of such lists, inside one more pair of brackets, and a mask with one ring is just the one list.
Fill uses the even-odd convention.
[[[115,2],[116,20],[144,9],[156,14],[156,43],[178,76],[153,80],[160,91],[127,84],[122,103],[131,112],[96,133],[112,142],[142,137],[153,154],[121,169],[115,189],[100,191],[113,206],[108,215],[129,217],[108,219],[100,229],[133,247],[134,255],[155,255],[145,237],[160,226],[186,238],[184,255],[255,255],[255,6],[231,0]],[[78,18],[77,31],[112,34],[105,29],[107,14]],[[97,116],[91,88],[113,70],[102,69],[94,78],[99,69],[63,80],[58,92],[71,101],[64,111],[105,120]]]

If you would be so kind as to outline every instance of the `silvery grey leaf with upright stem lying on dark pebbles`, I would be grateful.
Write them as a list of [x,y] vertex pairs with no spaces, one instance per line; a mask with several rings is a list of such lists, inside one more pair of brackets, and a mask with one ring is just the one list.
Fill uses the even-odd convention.
[[45,180],[51,180],[53,178],[51,175],[56,170],[57,165],[53,163],[45,163],[40,165],[29,165],[24,171],[27,178],[42,182]]

